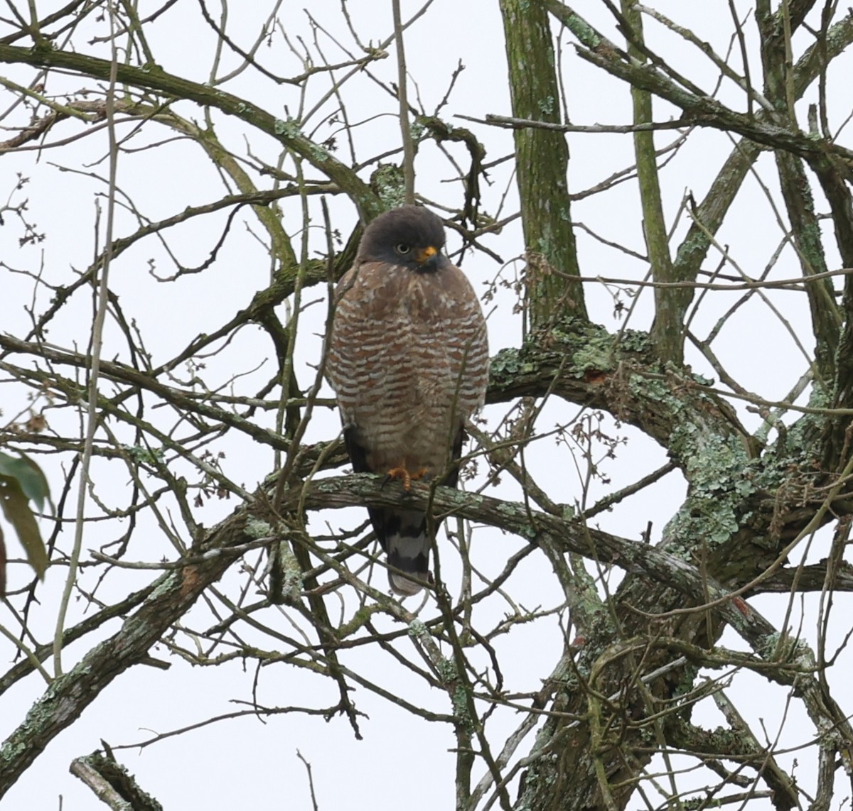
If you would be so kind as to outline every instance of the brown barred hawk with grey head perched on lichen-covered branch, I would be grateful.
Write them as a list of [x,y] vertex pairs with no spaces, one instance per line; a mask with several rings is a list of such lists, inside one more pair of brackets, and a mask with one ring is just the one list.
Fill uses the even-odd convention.
[[[386,211],[365,230],[335,290],[326,376],[352,468],[399,478],[406,490],[424,476],[456,486],[463,426],[483,405],[488,382],[483,311],[443,248],[444,226],[432,211]],[[368,512],[392,589],[416,594],[432,579],[427,516],[397,507]]]

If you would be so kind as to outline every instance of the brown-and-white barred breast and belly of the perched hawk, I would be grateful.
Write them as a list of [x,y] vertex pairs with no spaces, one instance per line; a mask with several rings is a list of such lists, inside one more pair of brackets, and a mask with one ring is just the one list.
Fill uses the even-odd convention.
[[363,266],[339,298],[328,377],[371,469],[403,459],[443,469],[456,430],[482,403],[485,324],[467,279],[452,270]]

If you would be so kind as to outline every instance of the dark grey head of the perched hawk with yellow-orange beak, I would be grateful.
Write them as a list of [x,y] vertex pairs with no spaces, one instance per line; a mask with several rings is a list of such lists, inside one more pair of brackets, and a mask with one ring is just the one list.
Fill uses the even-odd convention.
[[358,247],[361,262],[388,262],[415,273],[448,267],[442,253],[444,226],[428,209],[403,205],[380,214],[368,225]]

